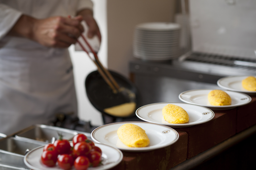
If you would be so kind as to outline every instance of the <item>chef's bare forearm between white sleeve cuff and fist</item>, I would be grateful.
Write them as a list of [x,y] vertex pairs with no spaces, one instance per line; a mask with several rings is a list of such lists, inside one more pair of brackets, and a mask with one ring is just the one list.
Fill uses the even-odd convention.
[[7,35],[25,37],[33,40],[33,28],[37,19],[22,15]]

